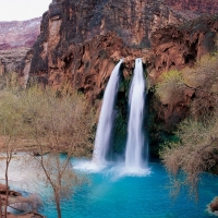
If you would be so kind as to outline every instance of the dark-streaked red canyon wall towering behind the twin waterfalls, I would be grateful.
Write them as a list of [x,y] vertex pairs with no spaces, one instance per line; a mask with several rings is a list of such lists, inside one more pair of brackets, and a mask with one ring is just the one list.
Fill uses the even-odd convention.
[[216,50],[218,16],[199,14],[216,13],[217,2],[210,3],[205,8],[201,0],[183,4],[168,0],[53,0],[17,73],[24,85],[31,76],[60,93],[75,88],[98,107],[112,69],[124,58],[118,105],[126,117],[134,60],[141,57],[149,82],[149,109],[156,113],[153,125],[161,123],[172,130],[189,116],[194,93],[187,88],[179,104],[162,105],[152,89],[162,72],[192,66]]

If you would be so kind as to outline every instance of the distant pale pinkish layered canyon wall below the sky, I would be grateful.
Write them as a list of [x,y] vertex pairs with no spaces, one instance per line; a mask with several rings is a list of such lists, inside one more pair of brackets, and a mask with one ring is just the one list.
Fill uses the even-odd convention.
[[14,71],[40,33],[41,17],[0,22],[0,75]]

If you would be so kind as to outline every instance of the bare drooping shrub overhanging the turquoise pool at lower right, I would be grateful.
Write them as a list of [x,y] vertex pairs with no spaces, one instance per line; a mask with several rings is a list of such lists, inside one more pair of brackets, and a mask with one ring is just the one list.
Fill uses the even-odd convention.
[[216,172],[218,165],[218,113],[207,122],[185,120],[179,126],[178,142],[166,143],[160,155],[169,171],[172,194],[182,185],[198,197],[198,182],[205,171]]

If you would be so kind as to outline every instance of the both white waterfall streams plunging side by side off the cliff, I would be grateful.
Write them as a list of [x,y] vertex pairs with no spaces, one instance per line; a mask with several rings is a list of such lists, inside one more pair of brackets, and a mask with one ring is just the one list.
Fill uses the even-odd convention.
[[[107,165],[111,150],[111,136],[116,119],[114,105],[120,82],[122,60],[113,69],[107,84],[99,122],[97,126],[93,161]],[[134,76],[129,93],[128,143],[125,146],[124,167],[131,171],[147,168],[147,143],[144,143],[143,119],[145,102],[145,80],[142,60],[135,60]]]

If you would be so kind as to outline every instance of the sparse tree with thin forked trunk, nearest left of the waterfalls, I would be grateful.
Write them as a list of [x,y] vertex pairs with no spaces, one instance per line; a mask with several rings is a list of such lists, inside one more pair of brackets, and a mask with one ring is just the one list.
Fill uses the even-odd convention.
[[[41,169],[43,175],[53,191],[58,217],[60,203],[80,184],[71,165],[72,156],[88,156],[93,149],[92,108],[87,111],[85,99],[77,94],[57,97],[51,89],[29,89],[22,98],[24,129],[33,137],[35,153],[31,157]],[[64,153],[65,158],[60,154]]]

